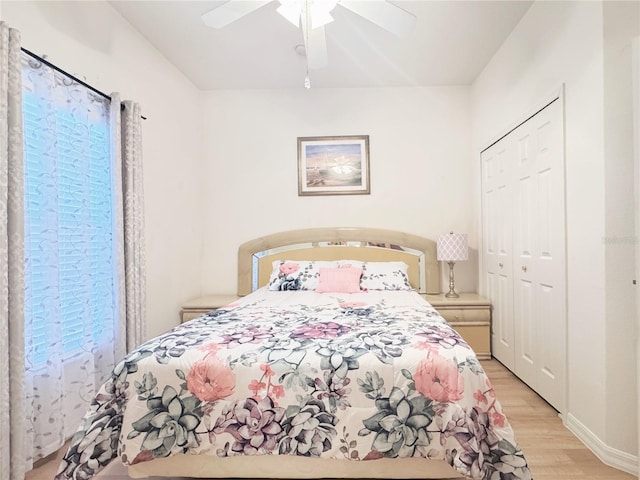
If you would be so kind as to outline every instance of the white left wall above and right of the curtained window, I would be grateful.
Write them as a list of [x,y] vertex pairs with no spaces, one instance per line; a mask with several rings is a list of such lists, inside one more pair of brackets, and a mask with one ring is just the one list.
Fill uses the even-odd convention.
[[106,2],[4,1],[24,48],[142,106],[148,336],[200,294],[200,92]]

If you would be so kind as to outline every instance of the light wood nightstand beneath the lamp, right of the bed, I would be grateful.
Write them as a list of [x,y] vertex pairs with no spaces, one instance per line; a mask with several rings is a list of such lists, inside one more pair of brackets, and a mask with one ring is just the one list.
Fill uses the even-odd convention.
[[476,293],[458,298],[422,295],[465,339],[481,360],[491,358],[491,302]]

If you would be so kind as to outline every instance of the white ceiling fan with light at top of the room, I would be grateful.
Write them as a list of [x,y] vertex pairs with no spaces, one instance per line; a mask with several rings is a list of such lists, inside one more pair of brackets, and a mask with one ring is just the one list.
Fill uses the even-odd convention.
[[[223,28],[260,7],[276,0],[228,0],[202,15],[205,25]],[[307,68],[328,64],[324,26],[333,21],[331,11],[340,5],[400,37],[413,30],[416,17],[387,0],[277,0],[277,11],[302,29]]]

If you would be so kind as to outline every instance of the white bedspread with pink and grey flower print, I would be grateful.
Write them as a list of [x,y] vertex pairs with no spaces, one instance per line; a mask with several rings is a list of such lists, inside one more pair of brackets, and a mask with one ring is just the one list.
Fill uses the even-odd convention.
[[530,479],[474,353],[415,292],[264,289],[128,354],[56,479],[175,453],[441,459]]

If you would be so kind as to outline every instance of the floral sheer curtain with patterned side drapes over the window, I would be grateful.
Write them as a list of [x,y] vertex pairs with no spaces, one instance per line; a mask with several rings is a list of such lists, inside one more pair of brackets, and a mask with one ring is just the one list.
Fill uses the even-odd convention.
[[0,478],[23,480],[146,335],[141,126],[1,40]]

